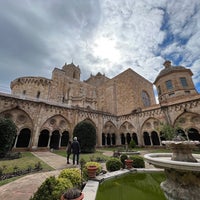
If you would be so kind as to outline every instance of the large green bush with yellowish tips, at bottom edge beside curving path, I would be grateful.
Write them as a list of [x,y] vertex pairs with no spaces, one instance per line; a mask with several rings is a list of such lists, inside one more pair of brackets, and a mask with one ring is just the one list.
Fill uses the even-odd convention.
[[30,200],[58,200],[62,193],[69,188],[72,188],[72,183],[69,179],[56,179],[55,176],[51,176],[42,183]]

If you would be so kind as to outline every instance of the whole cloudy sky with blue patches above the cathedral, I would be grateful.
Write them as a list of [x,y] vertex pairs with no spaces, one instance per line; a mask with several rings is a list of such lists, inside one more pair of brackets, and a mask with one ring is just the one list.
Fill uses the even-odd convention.
[[200,92],[199,0],[0,0],[0,27],[1,92],[72,61],[82,80],[132,68],[153,82],[165,60]]

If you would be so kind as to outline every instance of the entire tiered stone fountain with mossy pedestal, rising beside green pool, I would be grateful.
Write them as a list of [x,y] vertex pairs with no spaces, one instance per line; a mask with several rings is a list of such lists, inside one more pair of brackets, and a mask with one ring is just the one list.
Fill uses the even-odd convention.
[[166,180],[161,183],[168,200],[200,199],[200,154],[192,154],[199,141],[163,141],[172,153],[151,153],[145,160],[164,168]]

